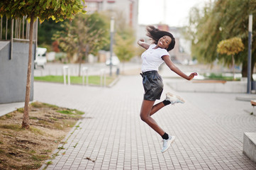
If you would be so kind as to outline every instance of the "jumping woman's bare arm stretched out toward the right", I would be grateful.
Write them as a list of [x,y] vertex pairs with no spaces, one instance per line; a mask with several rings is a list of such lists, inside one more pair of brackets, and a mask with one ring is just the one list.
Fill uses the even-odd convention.
[[189,76],[187,76],[186,74],[184,74],[182,71],[180,71],[180,69],[178,67],[176,67],[173,62],[169,59],[168,55],[164,55],[162,56],[162,60],[165,61],[165,63],[167,64],[167,66],[169,67],[169,69],[172,69],[173,72],[175,72],[176,74],[178,74],[180,77],[183,77],[184,79],[187,80],[191,80],[193,79],[195,76],[197,76],[197,73],[191,73]]

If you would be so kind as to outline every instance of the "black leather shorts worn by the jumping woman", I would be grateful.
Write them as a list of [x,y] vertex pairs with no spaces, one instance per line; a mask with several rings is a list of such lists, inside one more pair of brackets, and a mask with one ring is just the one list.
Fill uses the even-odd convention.
[[164,87],[164,84],[162,83],[162,77],[158,74],[157,71],[144,72],[141,75],[143,77],[143,88],[145,91],[144,100],[159,100]]

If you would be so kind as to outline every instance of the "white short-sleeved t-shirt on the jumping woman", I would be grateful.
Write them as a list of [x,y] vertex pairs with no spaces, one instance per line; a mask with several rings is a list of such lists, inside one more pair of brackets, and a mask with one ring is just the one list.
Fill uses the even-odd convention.
[[148,72],[152,70],[158,71],[158,67],[164,62],[162,60],[162,56],[169,55],[166,49],[158,47],[157,49],[153,49],[156,45],[152,44],[145,50],[141,55],[141,59],[143,60],[143,64],[141,66],[142,72]]

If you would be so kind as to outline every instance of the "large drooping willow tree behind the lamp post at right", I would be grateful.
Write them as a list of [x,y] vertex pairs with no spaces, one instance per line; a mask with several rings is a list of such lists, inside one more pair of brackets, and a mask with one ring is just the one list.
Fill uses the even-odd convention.
[[[187,33],[192,40],[191,52],[199,62],[213,63],[216,60],[228,62],[228,58],[218,56],[217,45],[221,40],[240,37],[245,50],[235,55],[235,61],[243,64],[242,75],[247,76],[248,17],[256,14],[256,1],[252,0],[216,0],[206,4],[202,10],[190,11]],[[256,20],[252,24],[252,39],[256,38]],[[252,71],[256,62],[256,45],[252,44]]]

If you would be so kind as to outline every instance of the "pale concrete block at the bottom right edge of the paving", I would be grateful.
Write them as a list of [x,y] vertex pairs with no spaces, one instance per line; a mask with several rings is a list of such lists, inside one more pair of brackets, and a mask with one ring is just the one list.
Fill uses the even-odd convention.
[[245,132],[243,135],[243,154],[256,163],[256,132]]

